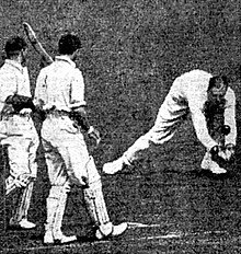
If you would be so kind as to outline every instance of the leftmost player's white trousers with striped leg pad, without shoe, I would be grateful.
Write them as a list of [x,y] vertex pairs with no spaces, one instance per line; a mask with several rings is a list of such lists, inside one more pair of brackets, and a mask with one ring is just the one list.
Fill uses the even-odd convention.
[[[7,138],[1,140],[8,146],[10,174],[5,180],[7,185],[22,174],[30,174],[33,178],[37,176],[36,151],[39,139],[34,123],[30,115],[13,115],[3,117],[1,128]],[[33,182],[30,183],[19,197],[16,210],[13,213],[14,221],[21,221],[27,217]]]

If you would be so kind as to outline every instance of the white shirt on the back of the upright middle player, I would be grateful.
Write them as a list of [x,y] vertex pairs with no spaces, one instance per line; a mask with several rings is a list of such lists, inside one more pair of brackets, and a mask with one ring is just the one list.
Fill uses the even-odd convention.
[[50,66],[41,70],[34,101],[45,109],[55,107],[66,112],[85,105],[83,77],[70,58],[57,56]]

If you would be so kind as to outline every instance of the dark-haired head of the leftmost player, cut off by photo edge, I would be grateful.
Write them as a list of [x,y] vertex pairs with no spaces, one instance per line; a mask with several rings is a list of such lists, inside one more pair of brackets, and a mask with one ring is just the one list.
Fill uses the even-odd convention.
[[25,58],[27,44],[24,38],[20,36],[10,37],[5,43],[5,55],[8,59],[14,59],[21,55],[22,58]]

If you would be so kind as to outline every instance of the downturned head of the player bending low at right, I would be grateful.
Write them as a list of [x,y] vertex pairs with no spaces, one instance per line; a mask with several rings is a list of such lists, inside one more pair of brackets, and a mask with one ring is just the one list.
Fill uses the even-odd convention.
[[222,99],[228,89],[228,79],[226,76],[215,76],[209,80],[208,93],[211,97],[219,101]]

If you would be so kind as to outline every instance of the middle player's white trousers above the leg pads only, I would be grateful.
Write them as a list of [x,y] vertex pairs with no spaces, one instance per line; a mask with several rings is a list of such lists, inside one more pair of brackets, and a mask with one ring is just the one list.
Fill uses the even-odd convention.
[[42,139],[51,186],[64,186],[69,177],[77,183],[82,176],[88,177],[87,145],[68,116],[48,115],[43,123]]

